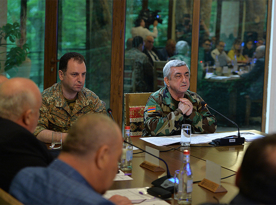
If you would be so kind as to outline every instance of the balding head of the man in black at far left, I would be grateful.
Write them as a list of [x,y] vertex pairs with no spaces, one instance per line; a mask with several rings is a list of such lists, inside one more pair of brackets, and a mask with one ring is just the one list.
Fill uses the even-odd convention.
[[12,78],[0,84],[0,117],[12,120],[30,132],[35,130],[42,99],[30,79]]

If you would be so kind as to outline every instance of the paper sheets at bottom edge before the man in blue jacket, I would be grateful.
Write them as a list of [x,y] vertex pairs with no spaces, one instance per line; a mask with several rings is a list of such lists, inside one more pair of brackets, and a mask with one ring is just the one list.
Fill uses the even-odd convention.
[[147,194],[146,190],[149,187],[144,188],[131,188],[131,189],[115,189],[115,190],[108,190],[103,195],[104,198],[109,199],[113,195],[120,195],[123,197],[127,197],[131,200],[132,203],[139,203],[139,204],[169,204],[164,200],[161,200],[157,197],[153,197],[150,194]]

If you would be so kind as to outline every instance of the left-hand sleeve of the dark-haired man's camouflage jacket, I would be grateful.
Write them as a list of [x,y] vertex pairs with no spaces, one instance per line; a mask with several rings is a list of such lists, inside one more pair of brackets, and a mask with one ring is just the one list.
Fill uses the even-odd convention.
[[48,111],[49,107],[46,104],[46,100],[42,99],[42,106],[39,109],[39,119],[34,132],[35,136],[37,136],[42,130],[48,129]]

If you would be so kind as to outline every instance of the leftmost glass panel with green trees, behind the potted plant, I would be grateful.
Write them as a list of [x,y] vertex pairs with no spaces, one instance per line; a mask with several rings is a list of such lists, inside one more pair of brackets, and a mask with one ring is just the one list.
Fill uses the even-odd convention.
[[[44,66],[44,33],[45,33],[45,1],[0,1],[1,27],[6,24],[18,23],[16,29],[21,36],[12,42],[7,39],[7,48],[1,50],[1,70],[8,78],[26,77],[32,79],[43,90],[43,66]],[[3,39],[2,42],[4,43]],[[12,44],[12,45],[11,45]],[[22,47],[27,44],[28,54],[19,65],[5,70],[6,52],[16,46]],[[1,46],[2,47],[2,46]],[[2,49],[2,48],[1,48]],[[11,54],[12,52],[10,52]],[[12,57],[12,59],[15,59]]]

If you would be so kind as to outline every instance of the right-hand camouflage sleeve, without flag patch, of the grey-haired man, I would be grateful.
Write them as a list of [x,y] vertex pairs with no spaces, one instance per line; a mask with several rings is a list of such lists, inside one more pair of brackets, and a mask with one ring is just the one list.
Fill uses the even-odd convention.
[[214,133],[217,129],[217,119],[211,115],[207,107],[201,106],[201,101],[204,101],[197,95],[197,102],[193,103],[193,112],[187,116],[186,122],[194,127],[194,131],[200,133]]

